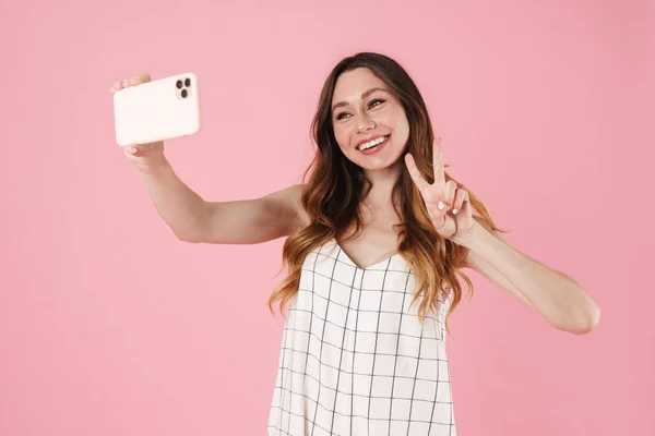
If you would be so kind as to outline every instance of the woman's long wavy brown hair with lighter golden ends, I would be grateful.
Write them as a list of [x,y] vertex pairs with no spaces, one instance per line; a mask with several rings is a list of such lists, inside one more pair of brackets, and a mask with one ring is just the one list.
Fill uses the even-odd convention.
[[[352,238],[356,238],[362,230],[359,206],[368,195],[371,184],[366,179],[364,170],[341,152],[334,137],[331,109],[337,78],[344,72],[358,68],[369,69],[400,99],[409,123],[409,137],[405,152],[414,156],[422,177],[429,183],[434,181],[432,168],[434,134],[428,110],[414,81],[396,61],[384,55],[360,52],[343,59],[332,70],[323,85],[318,110],[311,124],[312,138],[318,149],[305,171],[301,196],[301,206],[311,222],[289,235],[284,243],[281,272],[286,269],[287,277],[269,299],[269,310],[272,313],[276,301],[279,301],[282,313],[284,305],[298,292],[302,263],[312,250],[332,239],[341,240],[353,223],[356,231]],[[473,294],[473,283],[460,270],[467,249],[437,233],[406,166],[403,165],[402,168],[392,195],[392,198],[398,198],[398,204],[395,204],[394,208],[402,222],[394,226],[398,235],[397,252],[415,275],[416,290],[424,290],[424,298],[418,308],[421,326],[429,310],[439,313],[441,302],[449,296],[452,298],[445,322],[449,331],[448,317],[462,299],[462,287],[457,276],[467,282]],[[454,179],[446,172],[445,180]],[[474,218],[487,229],[504,232],[496,227],[480,199],[464,184],[455,182],[457,186],[468,191]],[[415,293],[412,304],[416,302],[419,294],[419,292]]]

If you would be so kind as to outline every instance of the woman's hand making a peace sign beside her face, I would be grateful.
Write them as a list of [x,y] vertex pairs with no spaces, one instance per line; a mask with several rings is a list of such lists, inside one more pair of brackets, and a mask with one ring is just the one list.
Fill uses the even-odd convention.
[[473,219],[468,192],[458,189],[457,183],[453,180],[445,182],[440,137],[434,140],[432,147],[434,183],[430,184],[424,179],[410,154],[405,155],[405,164],[414,184],[422,196],[434,229],[441,237],[456,241],[471,233],[476,223]]

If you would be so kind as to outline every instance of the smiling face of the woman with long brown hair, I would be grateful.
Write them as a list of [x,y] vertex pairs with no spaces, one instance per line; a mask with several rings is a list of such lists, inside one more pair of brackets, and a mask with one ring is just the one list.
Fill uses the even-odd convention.
[[401,101],[370,70],[343,73],[332,96],[334,136],[343,154],[367,170],[385,169],[398,161],[409,123]]

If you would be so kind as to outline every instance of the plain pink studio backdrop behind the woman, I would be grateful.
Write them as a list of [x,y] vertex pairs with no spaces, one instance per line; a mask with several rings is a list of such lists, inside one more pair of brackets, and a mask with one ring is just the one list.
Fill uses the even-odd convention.
[[322,82],[359,50],[407,68],[451,173],[602,308],[571,336],[471,271],[460,434],[654,435],[653,2],[236,3],[0,4],[0,435],[265,434],[283,241],[177,241],[108,89],[198,73],[203,131],[167,155],[205,198],[248,198],[299,181]]

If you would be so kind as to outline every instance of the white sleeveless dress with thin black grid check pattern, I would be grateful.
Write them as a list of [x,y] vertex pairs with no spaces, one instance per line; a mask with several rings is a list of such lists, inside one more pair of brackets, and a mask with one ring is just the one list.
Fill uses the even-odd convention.
[[359,268],[332,239],[289,301],[269,436],[455,436],[445,314],[417,316],[396,253]]

